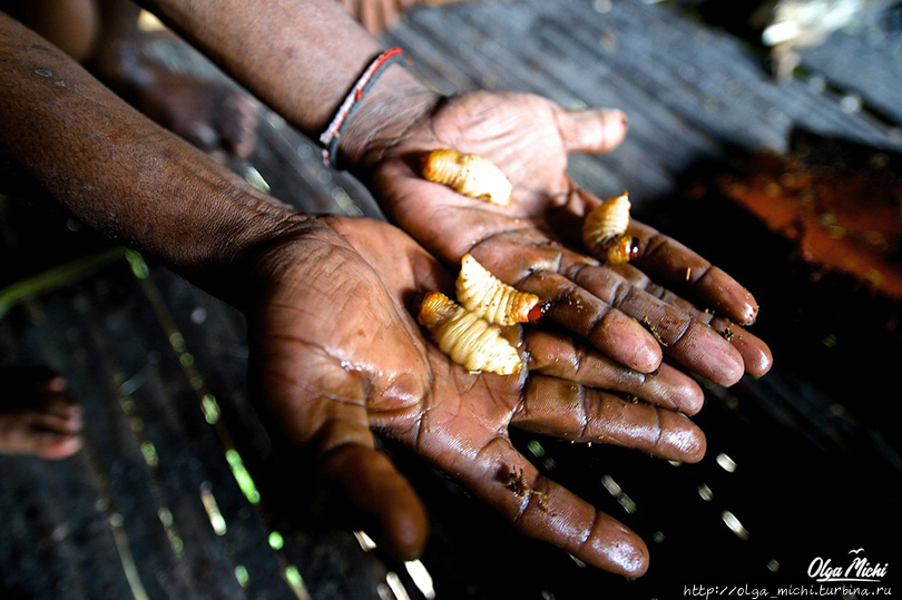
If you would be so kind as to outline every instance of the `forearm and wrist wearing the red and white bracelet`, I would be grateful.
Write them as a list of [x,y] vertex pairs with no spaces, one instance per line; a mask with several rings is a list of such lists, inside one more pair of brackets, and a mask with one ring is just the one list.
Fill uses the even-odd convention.
[[[313,139],[381,51],[335,0],[141,3]],[[356,167],[371,140],[394,137],[437,99],[406,69],[389,67],[342,137],[342,164]]]

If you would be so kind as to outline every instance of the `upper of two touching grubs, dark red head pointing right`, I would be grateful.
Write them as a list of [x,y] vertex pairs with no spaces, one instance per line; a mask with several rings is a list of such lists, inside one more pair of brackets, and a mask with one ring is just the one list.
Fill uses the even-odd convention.
[[539,296],[501,282],[470,254],[460,262],[457,288],[458,302],[464,308],[496,325],[535,321],[547,308],[539,304]]

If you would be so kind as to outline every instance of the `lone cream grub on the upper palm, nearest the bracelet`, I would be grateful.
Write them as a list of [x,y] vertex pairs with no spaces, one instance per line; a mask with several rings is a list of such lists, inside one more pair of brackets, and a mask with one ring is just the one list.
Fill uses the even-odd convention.
[[507,206],[511,185],[501,169],[481,156],[439,149],[423,160],[423,177],[443,184],[458,194]]

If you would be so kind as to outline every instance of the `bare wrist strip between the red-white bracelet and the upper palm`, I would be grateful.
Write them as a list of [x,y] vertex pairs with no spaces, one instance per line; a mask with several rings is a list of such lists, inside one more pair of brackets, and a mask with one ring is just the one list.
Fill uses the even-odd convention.
[[346,124],[339,146],[343,168],[362,174],[416,122],[429,117],[439,95],[400,65],[388,67]]

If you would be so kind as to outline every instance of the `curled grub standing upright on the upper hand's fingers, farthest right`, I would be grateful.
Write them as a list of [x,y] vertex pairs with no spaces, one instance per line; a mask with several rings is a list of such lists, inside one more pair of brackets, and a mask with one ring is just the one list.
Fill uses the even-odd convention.
[[626,235],[629,206],[629,196],[624,193],[596,206],[582,223],[582,242],[605,263],[626,263],[639,254],[639,240]]

